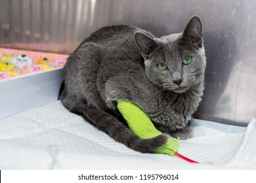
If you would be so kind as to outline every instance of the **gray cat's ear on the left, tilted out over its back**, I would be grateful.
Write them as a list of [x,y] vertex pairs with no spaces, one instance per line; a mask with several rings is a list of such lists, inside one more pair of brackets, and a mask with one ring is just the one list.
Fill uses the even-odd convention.
[[140,49],[141,55],[148,59],[152,50],[158,46],[158,42],[156,42],[152,37],[145,35],[141,32],[135,33],[135,42]]

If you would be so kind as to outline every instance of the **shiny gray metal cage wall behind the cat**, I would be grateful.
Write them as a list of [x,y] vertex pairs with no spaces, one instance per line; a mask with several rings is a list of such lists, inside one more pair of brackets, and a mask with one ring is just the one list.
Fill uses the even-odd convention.
[[70,53],[99,27],[137,25],[160,37],[197,14],[206,88],[198,118],[245,125],[256,116],[256,1],[0,0],[0,46]]

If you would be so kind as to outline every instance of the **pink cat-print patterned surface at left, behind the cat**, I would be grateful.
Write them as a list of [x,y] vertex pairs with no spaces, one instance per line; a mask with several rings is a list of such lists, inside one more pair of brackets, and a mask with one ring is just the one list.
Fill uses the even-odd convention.
[[60,69],[68,55],[0,48],[0,80]]

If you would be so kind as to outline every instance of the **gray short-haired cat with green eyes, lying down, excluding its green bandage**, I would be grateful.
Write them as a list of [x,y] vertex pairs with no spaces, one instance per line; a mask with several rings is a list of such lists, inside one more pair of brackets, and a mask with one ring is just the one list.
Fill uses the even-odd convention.
[[137,104],[163,133],[192,137],[188,121],[204,88],[202,22],[193,16],[182,33],[161,38],[134,26],[103,27],[78,46],[64,70],[60,99],[70,112],[117,142],[150,153],[165,144],[167,135],[140,139],[116,101]]

